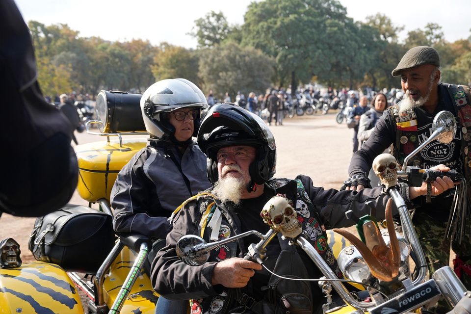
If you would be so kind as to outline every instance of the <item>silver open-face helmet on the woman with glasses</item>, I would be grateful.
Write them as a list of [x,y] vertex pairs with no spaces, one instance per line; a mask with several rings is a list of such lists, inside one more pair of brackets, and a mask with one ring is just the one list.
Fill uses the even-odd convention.
[[201,124],[201,111],[208,107],[208,103],[203,92],[189,80],[169,78],[149,86],[141,97],[140,106],[144,125],[152,138],[183,144],[175,139],[175,128],[165,115],[187,107],[199,109],[200,114],[193,120],[192,136],[196,136]]

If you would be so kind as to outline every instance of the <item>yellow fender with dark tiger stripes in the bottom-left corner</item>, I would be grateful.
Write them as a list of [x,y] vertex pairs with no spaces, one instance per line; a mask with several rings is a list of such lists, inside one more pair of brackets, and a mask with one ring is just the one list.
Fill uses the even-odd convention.
[[55,264],[31,262],[0,269],[0,288],[0,314],[83,314],[77,289]]

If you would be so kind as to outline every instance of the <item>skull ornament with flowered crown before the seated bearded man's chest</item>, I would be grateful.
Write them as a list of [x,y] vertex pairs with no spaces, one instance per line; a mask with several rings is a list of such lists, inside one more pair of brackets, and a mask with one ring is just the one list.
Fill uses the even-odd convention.
[[296,237],[303,231],[292,202],[284,194],[272,197],[260,215],[268,226],[286,237]]

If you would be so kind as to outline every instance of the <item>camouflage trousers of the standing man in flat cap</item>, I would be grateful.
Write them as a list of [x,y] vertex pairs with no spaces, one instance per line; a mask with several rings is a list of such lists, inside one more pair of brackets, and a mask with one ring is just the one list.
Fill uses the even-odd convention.
[[[445,238],[447,221],[434,219],[420,209],[414,214],[413,222],[427,261],[429,276],[437,269],[450,264],[451,247],[457,257],[456,260],[453,260],[455,272],[458,277],[460,277],[465,287],[471,290],[471,272],[467,272],[466,269],[467,265],[471,267],[471,241],[469,232],[466,233],[461,244],[458,240],[452,241],[449,238]],[[470,230],[469,221],[467,222],[466,230]],[[462,263],[458,262],[458,259],[462,261]],[[435,313],[446,313],[450,309],[445,300],[442,300],[436,308],[430,310]]]

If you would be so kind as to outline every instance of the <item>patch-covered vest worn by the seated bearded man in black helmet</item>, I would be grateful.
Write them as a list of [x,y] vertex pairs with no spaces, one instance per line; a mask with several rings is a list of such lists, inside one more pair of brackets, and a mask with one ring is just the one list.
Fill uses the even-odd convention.
[[[337,260],[331,248],[328,245],[325,227],[321,223],[318,212],[309,199],[303,183],[299,180],[271,179],[266,184],[276,193],[285,194],[293,202],[296,209],[298,220],[302,224],[303,231],[307,233],[308,241],[314,246],[324,261],[341,278],[340,269],[337,266]],[[210,197],[199,199],[199,209],[202,218],[198,226],[198,235],[208,242],[214,242],[229,236],[240,234],[240,221],[237,215],[233,214],[234,209],[219,200]],[[262,210],[262,209],[260,209]],[[262,218],[260,218],[262,219]],[[278,237],[280,241],[281,237]],[[275,240],[275,239],[273,239]],[[286,247],[287,243],[280,243],[280,246]],[[220,262],[237,256],[237,247],[239,248],[239,257],[247,253],[244,247],[243,239],[232,241],[221,245],[213,250],[209,257],[209,262]],[[221,314],[226,313],[228,309],[238,306],[237,289],[227,288],[221,294],[209,296],[204,299],[191,300],[191,313],[193,314]],[[260,300],[257,300],[260,301]]]

